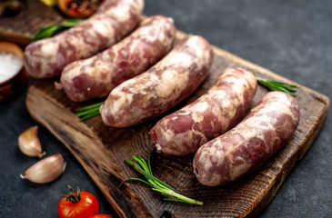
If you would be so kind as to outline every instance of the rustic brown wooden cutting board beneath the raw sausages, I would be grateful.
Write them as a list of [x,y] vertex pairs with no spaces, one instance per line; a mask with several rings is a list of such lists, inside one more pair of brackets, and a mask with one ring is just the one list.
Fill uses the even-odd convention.
[[[177,39],[185,36],[177,33]],[[206,81],[196,93],[166,114],[204,94],[227,66],[244,67],[257,76],[293,83],[234,54],[216,47],[214,51],[215,60]],[[251,107],[266,93],[264,87],[258,86]],[[125,160],[132,154],[147,157],[154,147],[148,132],[166,114],[130,128],[107,127],[100,116],[80,122],[74,115],[75,109],[93,102],[71,102],[64,92],[55,90],[54,80],[35,81],[26,96],[26,106],[35,120],[45,125],[75,155],[120,217],[254,217],[272,200],[287,174],[307,152],[326,118],[327,96],[304,86],[295,96],[301,108],[301,119],[291,141],[259,171],[236,183],[203,186],[192,173],[193,155],[153,154],[152,170],[156,177],[178,193],[203,201],[203,206],[163,201],[160,193],[152,192],[143,183],[125,183],[119,187],[127,178],[142,177]]]

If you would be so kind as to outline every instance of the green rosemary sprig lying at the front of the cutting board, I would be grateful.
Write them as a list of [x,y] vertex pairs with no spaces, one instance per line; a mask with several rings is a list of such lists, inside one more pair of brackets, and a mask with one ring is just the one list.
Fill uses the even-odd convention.
[[[166,183],[156,178],[151,171],[151,154],[154,152],[153,150],[147,157],[146,161],[139,155],[132,155],[134,162],[126,159],[126,163],[129,163],[134,166],[137,172],[142,173],[146,177],[146,181],[140,178],[130,178],[125,180],[123,183],[131,182],[131,181],[140,181],[142,183],[146,183],[152,187],[152,190],[163,193],[167,196],[173,196],[175,198],[163,198],[166,201],[174,201],[174,202],[182,202],[182,203],[194,203],[198,205],[203,205],[203,202],[196,201],[192,198],[188,198],[180,193],[176,193],[169,187]],[[122,183],[121,183],[122,184]],[[120,185],[121,185],[120,184]]]

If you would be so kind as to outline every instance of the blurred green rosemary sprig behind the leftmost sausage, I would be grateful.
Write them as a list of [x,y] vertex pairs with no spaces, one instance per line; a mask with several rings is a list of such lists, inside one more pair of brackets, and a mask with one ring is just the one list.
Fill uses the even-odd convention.
[[77,25],[83,20],[84,19],[67,19],[61,24],[49,25],[36,33],[36,35],[32,37],[32,39],[30,39],[30,42],[35,42],[36,40],[43,38],[49,38],[52,35],[55,35],[61,31],[64,31],[65,29],[73,27],[74,25]]

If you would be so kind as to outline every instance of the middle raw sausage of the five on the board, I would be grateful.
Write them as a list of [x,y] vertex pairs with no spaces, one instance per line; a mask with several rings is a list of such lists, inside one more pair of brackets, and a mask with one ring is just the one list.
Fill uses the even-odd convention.
[[191,35],[146,73],[116,86],[100,107],[105,124],[126,127],[165,113],[203,82],[213,60],[211,45]]

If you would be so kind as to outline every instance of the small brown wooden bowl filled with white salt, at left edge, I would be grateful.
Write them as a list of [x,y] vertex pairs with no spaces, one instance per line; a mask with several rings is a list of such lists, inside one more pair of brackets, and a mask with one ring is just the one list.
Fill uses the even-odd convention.
[[12,43],[0,42],[0,101],[20,93],[27,79],[22,49]]

